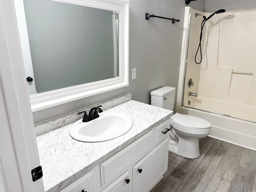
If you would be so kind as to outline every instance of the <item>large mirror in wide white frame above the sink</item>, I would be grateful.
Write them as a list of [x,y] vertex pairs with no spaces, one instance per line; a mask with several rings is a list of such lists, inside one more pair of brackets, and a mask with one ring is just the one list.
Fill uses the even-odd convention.
[[128,86],[128,0],[16,1],[32,112]]

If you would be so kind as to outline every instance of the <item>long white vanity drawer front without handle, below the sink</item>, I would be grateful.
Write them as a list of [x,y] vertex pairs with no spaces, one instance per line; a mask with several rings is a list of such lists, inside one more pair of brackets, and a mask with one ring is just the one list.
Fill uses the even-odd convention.
[[150,130],[136,141],[126,146],[120,152],[116,153],[108,160],[100,164],[100,180],[101,186],[104,187],[109,182],[113,181],[128,166],[143,157],[154,147],[154,129]]

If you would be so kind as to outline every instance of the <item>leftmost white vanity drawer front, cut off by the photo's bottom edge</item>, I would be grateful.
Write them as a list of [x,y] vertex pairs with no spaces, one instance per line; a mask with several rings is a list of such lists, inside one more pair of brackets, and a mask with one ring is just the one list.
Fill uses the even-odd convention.
[[93,170],[90,170],[59,192],[94,192]]

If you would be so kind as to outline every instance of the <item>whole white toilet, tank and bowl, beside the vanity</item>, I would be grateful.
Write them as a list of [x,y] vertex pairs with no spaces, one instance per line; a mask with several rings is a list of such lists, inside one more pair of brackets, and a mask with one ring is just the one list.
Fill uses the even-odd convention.
[[[151,105],[173,111],[175,88],[164,86],[151,91]],[[171,117],[169,151],[194,159],[200,156],[199,138],[211,133],[211,124],[199,117],[176,113]]]

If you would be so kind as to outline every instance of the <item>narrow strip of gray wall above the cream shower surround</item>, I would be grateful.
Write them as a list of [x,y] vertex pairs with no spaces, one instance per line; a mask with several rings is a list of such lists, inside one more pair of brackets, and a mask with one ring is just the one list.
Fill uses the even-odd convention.
[[217,11],[220,9],[236,10],[256,8],[255,0],[206,0],[205,11]]

